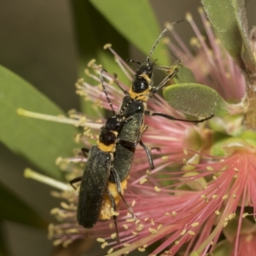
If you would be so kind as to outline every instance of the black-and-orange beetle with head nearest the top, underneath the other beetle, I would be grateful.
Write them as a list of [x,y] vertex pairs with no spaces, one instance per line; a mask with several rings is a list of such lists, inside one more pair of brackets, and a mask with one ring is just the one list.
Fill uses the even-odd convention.
[[[176,22],[177,23],[177,22]],[[135,62],[139,67],[137,67],[135,75],[131,82],[131,88],[129,91],[124,90],[117,80],[115,80],[116,84],[119,86],[121,90],[125,93],[125,97],[123,98],[123,102],[121,105],[121,109],[125,108],[125,106],[128,106],[125,108],[124,116],[125,118],[132,117],[132,119],[125,123],[122,128],[119,130],[118,139],[119,140],[129,140],[131,143],[137,146],[139,143],[144,150],[146,151],[146,154],[148,155],[148,162],[149,166],[152,169],[154,169],[154,162],[152,160],[151,154],[147,146],[142,141],[143,132],[147,130],[147,125],[144,124],[144,117],[145,115],[148,116],[162,116],[166,119],[176,120],[176,121],[184,121],[184,122],[190,122],[190,123],[201,123],[203,121],[206,121],[207,119],[211,119],[213,115],[205,118],[205,119],[199,119],[199,120],[188,120],[188,119],[177,119],[169,114],[166,113],[159,113],[159,112],[151,112],[147,110],[147,102],[148,98],[151,94],[156,93],[160,88],[162,88],[166,82],[172,77],[174,77],[177,72],[177,65],[181,61],[177,61],[172,67],[155,67],[154,62],[151,61],[150,57],[154,52],[154,49],[156,45],[160,42],[160,38],[164,35],[164,33],[167,31],[167,28],[165,28],[161,33],[160,36],[155,41],[152,49],[149,52],[149,55],[147,56],[147,59],[145,62],[141,63],[139,61],[132,61],[127,60],[130,62]],[[157,86],[153,85],[153,74],[154,69],[164,69],[169,70],[172,72],[166,76],[165,79],[163,79],[160,84]],[[117,144],[116,151],[114,153],[114,160],[113,160],[113,166],[116,172],[119,175],[120,181],[124,181],[126,177],[128,177],[129,172],[131,170],[131,165],[133,162],[133,157],[135,154],[136,146],[128,146],[124,144]],[[113,174],[110,175],[110,182],[114,183],[114,177]]]

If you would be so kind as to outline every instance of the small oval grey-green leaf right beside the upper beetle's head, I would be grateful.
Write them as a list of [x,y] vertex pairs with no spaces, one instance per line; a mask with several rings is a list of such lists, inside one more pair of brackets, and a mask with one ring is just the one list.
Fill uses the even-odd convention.
[[228,104],[216,90],[203,84],[174,84],[163,91],[172,108],[194,116],[208,117],[228,114]]

